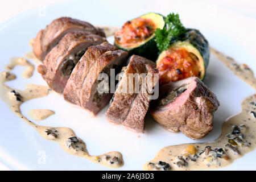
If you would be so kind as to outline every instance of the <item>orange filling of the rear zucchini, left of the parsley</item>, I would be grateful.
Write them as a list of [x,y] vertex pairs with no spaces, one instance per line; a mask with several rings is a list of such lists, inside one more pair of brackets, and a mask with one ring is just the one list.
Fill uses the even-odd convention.
[[135,18],[126,22],[121,30],[115,33],[115,42],[122,47],[136,47],[149,38],[156,30],[151,19]]

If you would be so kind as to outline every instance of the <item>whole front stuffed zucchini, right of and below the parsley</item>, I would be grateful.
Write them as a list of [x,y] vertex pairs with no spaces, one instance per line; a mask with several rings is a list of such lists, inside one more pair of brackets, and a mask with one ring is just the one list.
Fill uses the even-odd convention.
[[209,63],[209,44],[195,29],[187,29],[185,36],[160,53],[156,61],[159,83],[179,81],[196,76],[204,79]]

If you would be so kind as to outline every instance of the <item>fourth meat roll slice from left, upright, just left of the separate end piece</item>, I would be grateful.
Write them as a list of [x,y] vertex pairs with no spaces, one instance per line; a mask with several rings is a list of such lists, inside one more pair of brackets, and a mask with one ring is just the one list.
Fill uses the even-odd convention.
[[[123,76],[106,113],[108,121],[122,123],[133,131],[143,133],[144,117],[151,95],[148,90],[152,90],[158,81],[154,79],[154,74],[158,73],[155,67],[155,63],[144,57],[133,55],[129,58],[129,64],[122,70]],[[133,76],[136,77],[135,73],[138,73],[137,76],[144,74],[145,77],[133,79]],[[151,84],[147,82],[147,76],[152,76]],[[136,84],[139,85],[139,90],[135,89]]]

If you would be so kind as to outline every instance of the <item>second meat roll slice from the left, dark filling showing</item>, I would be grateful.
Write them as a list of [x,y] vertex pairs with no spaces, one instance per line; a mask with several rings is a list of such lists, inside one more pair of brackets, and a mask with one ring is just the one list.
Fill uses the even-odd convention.
[[38,66],[38,72],[50,88],[62,93],[68,78],[77,62],[90,46],[106,41],[99,35],[86,32],[69,32],[46,56],[43,64]]

